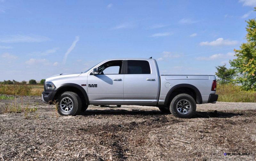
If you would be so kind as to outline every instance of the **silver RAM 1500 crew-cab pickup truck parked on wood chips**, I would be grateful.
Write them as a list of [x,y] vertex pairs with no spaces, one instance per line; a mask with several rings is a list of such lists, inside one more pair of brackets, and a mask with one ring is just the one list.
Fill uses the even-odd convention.
[[211,75],[160,75],[152,58],[109,59],[84,73],[47,78],[42,100],[57,103],[61,115],[76,115],[88,105],[141,105],[191,118],[196,104],[216,103],[216,85]]

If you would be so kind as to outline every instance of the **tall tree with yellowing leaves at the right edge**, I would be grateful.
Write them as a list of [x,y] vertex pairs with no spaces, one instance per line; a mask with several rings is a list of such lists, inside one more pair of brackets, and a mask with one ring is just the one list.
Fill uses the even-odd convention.
[[[256,7],[254,8],[256,11]],[[246,27],[246,43],[242,43],[240,50],[235,51],[234,60],[229,63],[239,75],[236,77],[238,83],[245,90],[256,90],[256,20],[249,19]]]

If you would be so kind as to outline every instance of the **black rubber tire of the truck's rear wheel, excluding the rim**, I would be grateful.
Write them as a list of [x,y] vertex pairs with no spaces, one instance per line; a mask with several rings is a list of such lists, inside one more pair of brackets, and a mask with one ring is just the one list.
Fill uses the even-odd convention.
[[[177,104],[179,103],[180,100],[183,100],[183,99],[188,100],[191,105],[190,110],[188,111],[188,113],[185,113],[185,114],[180,113],[179,110],[177,109]],[[179,94],[172,99],[172,102],[170,105],[170,111],[172,115],[175,117],[191,118],[196,112],[196,101],[189,94],[184,94],[184,93]]]

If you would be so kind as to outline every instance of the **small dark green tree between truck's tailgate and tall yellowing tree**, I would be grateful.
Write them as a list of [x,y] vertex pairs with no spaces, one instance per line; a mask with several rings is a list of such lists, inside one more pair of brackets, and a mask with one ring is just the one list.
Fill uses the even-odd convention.
[[236,76],[235,69],[226,68],[226,64],[215,68],[217,69],[215,75],[219,78],[218,83],[228,84],[234,82],[234,77]]

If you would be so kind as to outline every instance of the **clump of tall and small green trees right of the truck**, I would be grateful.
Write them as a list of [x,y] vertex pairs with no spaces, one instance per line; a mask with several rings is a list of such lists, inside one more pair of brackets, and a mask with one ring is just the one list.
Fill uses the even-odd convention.
[[247,91],[256,91],[256,19],[246,22],[247,42],[239,50],[234,49],[236,58],[229,60],[232,68],[226,68],[226,64],[218,66],[215,74],[220,84],[239,84]]

